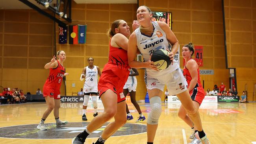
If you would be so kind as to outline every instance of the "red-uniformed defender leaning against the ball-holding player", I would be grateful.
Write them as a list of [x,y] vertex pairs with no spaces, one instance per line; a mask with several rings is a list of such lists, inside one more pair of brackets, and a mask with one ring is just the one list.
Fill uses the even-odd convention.
[[104,66],[98,82],[98,92],[104,105],[104,112],[93,118],[85,130],[73,138],[72,144],[83,144],[91,132],[114,117],[115,121],[106,126],[95,143],[103,144],[126,123],[126,102],[123,87],[130,73],[127,57],[129,35],[130,30],[127,22],[115,20],[112,23],[111,29],[108,31],[110,38],[108,63]]

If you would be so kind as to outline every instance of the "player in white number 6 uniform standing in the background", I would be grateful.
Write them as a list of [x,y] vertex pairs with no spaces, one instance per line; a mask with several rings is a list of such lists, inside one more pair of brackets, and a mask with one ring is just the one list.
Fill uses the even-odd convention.
[[93,65],[94,59],[92,57],[88,58],[89,66],[83,68],[82,74],[80,76],[80,80],[83,81],[85,78],[85,82],[83,85],[83,113],[82,120],[87,120],[86,117],[86,109],[89,102],[89,97],[91,94],[91,100],[93,102],[94,114],[93,116],[98,115],[98,104],[97,104],[97,94],[98,94],[98,75],[101,76],[100,68],[96,65]]

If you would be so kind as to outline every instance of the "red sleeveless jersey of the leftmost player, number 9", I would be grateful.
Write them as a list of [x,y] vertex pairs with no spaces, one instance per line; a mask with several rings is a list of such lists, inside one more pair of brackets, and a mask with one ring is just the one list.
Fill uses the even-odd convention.
[[58,61],[58,66],[56,68],[50,68],[50,74],[45,81],[45,85],[54,89],[60,89],[64,73],[64,66],[61,66]]

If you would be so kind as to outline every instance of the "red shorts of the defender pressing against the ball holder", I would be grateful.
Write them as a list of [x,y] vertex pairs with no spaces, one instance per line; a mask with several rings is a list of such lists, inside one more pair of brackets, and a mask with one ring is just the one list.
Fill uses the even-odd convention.
[[108,89],[110,89],[117,94],[117,103],[124,101],[125,96],[122,93],[123,87],[130,73],[128,70],[125,72],[126,73],[123,74],[122,78],[119,78],[117,75],[115,75],[112,70],[106,70],[102,72],[98,82],[98,92],[100,96]]

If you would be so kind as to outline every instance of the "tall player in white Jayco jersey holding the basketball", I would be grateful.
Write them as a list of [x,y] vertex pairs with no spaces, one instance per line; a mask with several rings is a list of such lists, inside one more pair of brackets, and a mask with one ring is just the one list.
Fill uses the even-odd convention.
[[[158,119],[161,115],[161,98],[164,86],[170,95],[177,95],[187,114],[195,124],[198,132],[195,134],[203,144],[210,144],[202,129],[200,115],[193,105],[187,90],[187,82],[180,70],[180,66],[174,60],[174,54],[178,51],[178,40],[173,31],[165,22],[151,22],[152,13],[147,6],[137,9],[137,20],[140,27],[129,37],[128,41],[128,63],[133,68],[145,69],[145,83],[148,89],[151,112],[147,120],[147,144],[153,144],[158,127]],[[171,48],[172,46],[172,48]],[[169,50],[172,64],[165,70],[158,70],[151,61],[151,55],[155,50]],[[135,61],[137,50],[141,52],[144,62]]]

